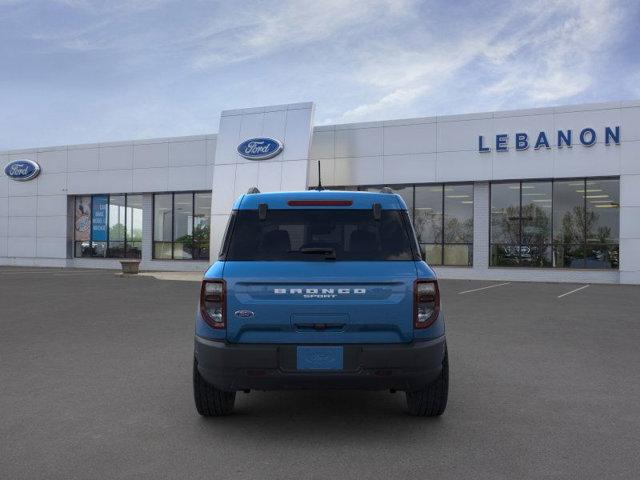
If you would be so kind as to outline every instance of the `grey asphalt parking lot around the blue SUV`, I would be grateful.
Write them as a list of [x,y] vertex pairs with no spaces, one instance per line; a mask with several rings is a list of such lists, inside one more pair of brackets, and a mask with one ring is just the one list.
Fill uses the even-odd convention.
[[0,478],[640,476],[640,287],[441,290],[441,418],[400,393],[251,392],[203,419],[197,283],[0,267]]

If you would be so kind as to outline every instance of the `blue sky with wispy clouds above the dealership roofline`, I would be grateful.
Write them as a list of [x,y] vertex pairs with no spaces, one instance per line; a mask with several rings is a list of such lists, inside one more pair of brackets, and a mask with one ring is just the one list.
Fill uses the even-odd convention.
[[640,2],[0,0],[0,150],[640,98]]

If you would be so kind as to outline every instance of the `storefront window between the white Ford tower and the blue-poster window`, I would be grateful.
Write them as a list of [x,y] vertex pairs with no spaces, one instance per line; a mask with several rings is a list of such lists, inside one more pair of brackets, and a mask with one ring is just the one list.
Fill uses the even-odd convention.
[[153,196],[153,258],[209,260],[211,193]]

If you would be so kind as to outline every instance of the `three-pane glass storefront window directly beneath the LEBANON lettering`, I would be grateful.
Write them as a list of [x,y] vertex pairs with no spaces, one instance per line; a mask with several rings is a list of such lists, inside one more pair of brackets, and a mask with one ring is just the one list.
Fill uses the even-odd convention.
[[491,184],[491,266],[618,268],[619,180]]

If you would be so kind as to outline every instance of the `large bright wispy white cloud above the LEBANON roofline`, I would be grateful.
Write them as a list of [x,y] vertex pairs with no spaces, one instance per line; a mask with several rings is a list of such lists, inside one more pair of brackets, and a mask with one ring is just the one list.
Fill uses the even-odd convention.
[[369,89],[368,98],[338,120],[402,115],[410,104],[469,82],[479,105],[513,105],[514,97],[529,105],[567,101],[593,84],[598,56],[616,40],[622,20],[609,1],[538,1],[501,10],[498,17],[474,18],[457,35],[425,35],[417,48],[401,37],[361,54],[353,77]]

